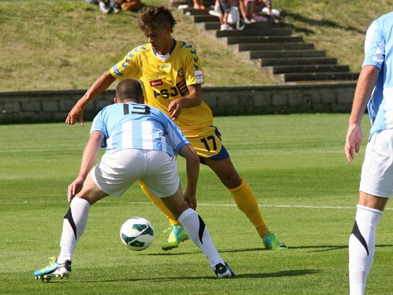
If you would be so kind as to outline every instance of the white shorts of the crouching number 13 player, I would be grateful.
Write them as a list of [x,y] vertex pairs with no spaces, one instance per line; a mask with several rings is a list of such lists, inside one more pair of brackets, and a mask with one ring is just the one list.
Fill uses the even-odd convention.
[[176,158],[159,150],[129,148],[106,153],[90,174],[104,193],[115,197],[138,179],[159,198],[173,195],[180,184]]

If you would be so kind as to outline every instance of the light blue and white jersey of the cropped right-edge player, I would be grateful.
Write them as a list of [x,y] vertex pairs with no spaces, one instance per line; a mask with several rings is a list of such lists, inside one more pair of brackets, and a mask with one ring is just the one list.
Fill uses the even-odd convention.
[[375,20],[365,36],[365,65],[380,69],[377,83],[368,102],[371,135],[393,128],[393,12]]

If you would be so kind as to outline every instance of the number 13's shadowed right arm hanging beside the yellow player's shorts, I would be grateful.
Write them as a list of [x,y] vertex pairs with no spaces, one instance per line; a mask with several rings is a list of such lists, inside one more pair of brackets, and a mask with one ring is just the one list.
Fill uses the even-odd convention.
[[191,145],[180,148],[181,155],[186,159],[187,188],[184,200],[194,210],[197,208],[197,181],[199,177],[199,157]]

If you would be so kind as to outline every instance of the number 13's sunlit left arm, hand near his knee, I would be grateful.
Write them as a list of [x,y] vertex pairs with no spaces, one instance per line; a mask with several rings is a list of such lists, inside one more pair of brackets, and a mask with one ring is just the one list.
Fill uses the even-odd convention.
[[81,168],[79,170],[79,175],[75,180],[68,186],[67,199],[68,202],[79,193],[83,187],[84,180],[86,179],[91,166],[93,165],[95,159],[97,158],[98,151],[100,150],[101,143],[104,139],[104,134],[100,131],[94,131],[84,147],[82,155]]

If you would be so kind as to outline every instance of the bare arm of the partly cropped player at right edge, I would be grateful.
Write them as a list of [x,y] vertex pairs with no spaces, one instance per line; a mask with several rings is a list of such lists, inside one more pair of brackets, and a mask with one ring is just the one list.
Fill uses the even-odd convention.
[[348,162],[353,160],[354,152],[359,152],[363,137],[361,122],[367,102],[370,99],[372,89],[377,82],[378,74],[379,69],[373,65],[365,65],[360,72],[352,103],[351,116],[349,117],[348,131],[344,147]]

